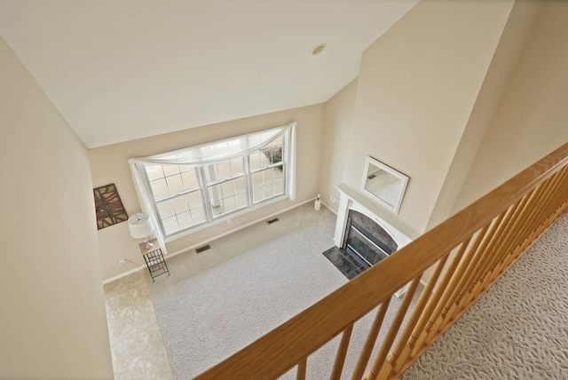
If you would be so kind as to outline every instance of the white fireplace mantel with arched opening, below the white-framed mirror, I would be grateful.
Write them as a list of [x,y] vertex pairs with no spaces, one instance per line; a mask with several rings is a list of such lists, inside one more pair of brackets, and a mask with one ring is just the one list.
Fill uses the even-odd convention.
[[[398,249],[406,246],[411,241],[414,241],[419,234],[416,234],[407,226],[400,223],[397,226],[393,226],[392,221],[388,222],[386,219],[389,218],[386,214],[387,210],[383,210],[380,206],[376,205],[371,200],[367,199],[364,195],[351,189],[351,187],[340,184],[335,186],[339,191],[339,203],[337,207],[337,221],[335,222],[335,234],[334,242],[337,247],[342,246],[345,228],[347,225],[347,217],[349,215],[349,210],[356,210],[360,213],[366,215],[368,218],[375,220],[379,226],[390,234],[390,237],[397,243]],[[390,218],[392,219],[392,218]]]

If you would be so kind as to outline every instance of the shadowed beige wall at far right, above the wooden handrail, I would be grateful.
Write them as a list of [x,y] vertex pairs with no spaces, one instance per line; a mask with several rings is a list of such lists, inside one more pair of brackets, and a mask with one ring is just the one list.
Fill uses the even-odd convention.
[[568,141],[568,2],[543,2],[454,210]]

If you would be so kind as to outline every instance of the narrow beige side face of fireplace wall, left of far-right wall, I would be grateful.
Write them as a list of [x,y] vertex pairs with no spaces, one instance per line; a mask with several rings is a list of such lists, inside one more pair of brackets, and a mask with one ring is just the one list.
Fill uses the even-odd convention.
[[517,66],[517,60],[533,29],[539,11],[540,2],[537,1],[521,0],[513,6],[497,50],[493,55],[491,66],[485,75],[475,107],[456,149],[444,186],[438,194],[427,229],[437,226],[452,215],[461,186],[468,176],[485,132],[493,122],[495,112],[501,104],[503,93]]

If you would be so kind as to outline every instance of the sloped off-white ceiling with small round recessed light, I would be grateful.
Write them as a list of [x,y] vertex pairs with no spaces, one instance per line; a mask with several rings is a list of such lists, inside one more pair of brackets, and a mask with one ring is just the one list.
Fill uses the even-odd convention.
[[324,102],[417,2],[0,0],[0,35],[94,147]]

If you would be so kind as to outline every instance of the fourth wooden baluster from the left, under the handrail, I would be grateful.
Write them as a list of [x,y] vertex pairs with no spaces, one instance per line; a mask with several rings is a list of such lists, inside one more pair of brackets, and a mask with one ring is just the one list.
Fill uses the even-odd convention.
[[390,327],[386,335],[384,336],[383,344],[381,344],[379,352],[377,352],[375,356],[375,361],[373,361],[371,371],[369,374],[367,374],[368,379],[376,379],[382,370],[386,371],[387,373],[390,372],[390,368],[383,368],[383,365],[385,364],[385,360],[387,358],[387,354],[390,351],[390,347],[392,346],[392,342],[394,342],[394,338],[397,336],[398,329],[400,329],[400,325],[405,318],[406,311],[408,310],[408,306],[410,305],[410,302],[414,297],[414,292],[416,291],[416,288],[420,283],[421,277],[422,273],[414,277],[414,280],[410,282],[410,286],[408,287],[408,290],[406,290],[405,297],[403,297],[402,302],[398,306],[396,315],[390,322]]

